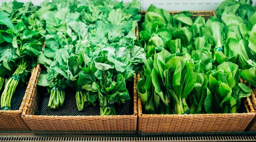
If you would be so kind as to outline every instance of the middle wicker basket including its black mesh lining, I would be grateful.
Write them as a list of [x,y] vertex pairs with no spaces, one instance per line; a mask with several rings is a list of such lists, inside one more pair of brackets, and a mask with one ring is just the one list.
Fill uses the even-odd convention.
[[[116,108],[116,116],[99,116],[99,106],[89,106],[84,111],[77,111],[75,93],[67,93],[73,95],[71,100],[67,100],[65,97],[64,106],[61,106],[56,110],[49,110],[45,107],[48,102],[47,97],[44,97],[45,91],[38,93],[37,81],[40,75],[41,67],[38,64],[36,67],[36,73],[32,79],[32,86],[29,90],[28,99],[24,111],[22,113],[23,120],[27,123],[32,131],[136,131],[137,129],[137,89],[136,89],[136,77],[134,77],[133,86],[131,86],[130,97],[132,103],[120,106],[120,109],[132,105],[132,110],[121,111]],[[67,95],[66,94],[66,95]],[[131,94],[133,94],[131,96]],[[69,96],[67,96],[69,97]],[[49,99],[48,99],[49,100]],[[65,110],[65,103],[73,102],[74,105],[71,109],[75,109],[72,112]],[[62,108],[63,107],[63,108]],[[94,107],[94,108],[93,108]],[[71,110],[70,108],[69,111]],[[41,115],[37,115],[38,113]],[[88,113],[86,110],[90,110]],[[95,111],[94,111],[95,110]],[[124,113],[130,113],[130,115],[123,115]],[[68,114],[68,116],[64,116]],[[73,116],[76,115],[76,116]]]

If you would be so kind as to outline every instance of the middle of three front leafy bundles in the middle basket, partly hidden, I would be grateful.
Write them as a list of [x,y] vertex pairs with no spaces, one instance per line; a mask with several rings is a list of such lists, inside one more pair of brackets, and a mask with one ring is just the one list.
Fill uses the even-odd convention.
[[[69,85],[76,87],[76,105],[79,111],[84,110],[90,104],[96,106],[98,98],[97,92],[93,91],[92,85],[89,85],[93,84],[95,77],[93,77],[92,70],[90,70],[89,58],[91,57],[91,51],[85,45],[84,43],[77,43],[76,53],[67,58],[67,73],[72,81]],[[88,84],[87,81],[90,83]]]

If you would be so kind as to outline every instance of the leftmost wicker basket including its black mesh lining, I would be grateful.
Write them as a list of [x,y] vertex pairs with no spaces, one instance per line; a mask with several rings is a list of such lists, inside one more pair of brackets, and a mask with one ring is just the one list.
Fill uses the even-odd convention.
[[[35,68],[32,71],[28,86],[17,86],[12,96],[11,110],[0,110],[0,131],[30,131],[29,126],[21,118],[21,114],[25,106],[34,73]],[[0,93],[2,94],[2,92],[3,88]]]

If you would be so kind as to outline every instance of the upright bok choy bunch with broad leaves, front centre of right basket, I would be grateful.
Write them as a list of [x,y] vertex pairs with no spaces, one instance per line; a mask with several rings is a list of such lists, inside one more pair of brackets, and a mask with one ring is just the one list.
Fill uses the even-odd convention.
[[[194,64],[186,61],[186,58],[175,56],[167,63],[168,90],[174,100],[174,114],[188,113],[189,106],[186,97],[195,87],[196,73]],[[170,68],[169,68],[169,67]]]

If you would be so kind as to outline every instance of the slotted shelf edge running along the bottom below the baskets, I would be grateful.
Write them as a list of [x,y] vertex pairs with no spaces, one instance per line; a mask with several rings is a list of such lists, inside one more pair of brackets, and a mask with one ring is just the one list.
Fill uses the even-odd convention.
[[253,142],[255,132],[165,133],[0,131],[0,142]]

